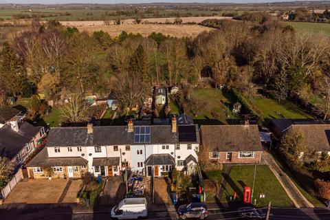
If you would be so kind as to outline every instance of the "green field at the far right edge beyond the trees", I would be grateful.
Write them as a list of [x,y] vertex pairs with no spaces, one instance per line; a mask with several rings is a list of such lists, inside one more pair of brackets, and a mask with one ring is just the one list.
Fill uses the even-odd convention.
[[285,22],[292,25],[297,32],[306,32],[309,34],[330,35],[330,23],[309,23],[309,22]]

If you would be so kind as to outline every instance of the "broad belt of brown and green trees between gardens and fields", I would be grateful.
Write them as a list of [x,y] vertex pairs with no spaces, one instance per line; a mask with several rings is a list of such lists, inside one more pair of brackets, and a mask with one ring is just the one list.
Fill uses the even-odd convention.
[[[78,32],[56,21],[33,21],[1,47],[0,88],[5,96],[107,94],[124,107],[140,104],[154,85],[197,85],[238,89],[254,98],[263,89],[278,100],[309,102],[324,97],[318,113],[327,118],[330,100],[330,50],[325,36],[300,34],[283,23],[206,20],[216,28],[183,39],[153,33]],[[142,92],[137,92],[142,91]]]

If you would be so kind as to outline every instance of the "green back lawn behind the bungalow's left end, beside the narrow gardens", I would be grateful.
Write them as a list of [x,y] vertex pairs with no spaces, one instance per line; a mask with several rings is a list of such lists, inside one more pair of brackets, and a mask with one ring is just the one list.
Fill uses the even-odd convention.
[[[239,118],[232,113],[232,104],[236,102],[229,91],[217,91],[216,89],[195,89],[192,97],[205,102],[205,107],[197,113],[194,120],[203,121],[218,120],[219,124],[228,124],[228,119]],[[222,103],[221,103],[222,101]],[[227,115],[230,117],[228,118]]]

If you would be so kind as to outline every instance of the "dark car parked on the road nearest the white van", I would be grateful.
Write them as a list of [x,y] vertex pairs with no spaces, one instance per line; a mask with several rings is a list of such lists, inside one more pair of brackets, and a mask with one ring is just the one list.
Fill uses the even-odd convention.
[[192,202],[188,205],[180,206],[177,209],[181,219],[199,218],[205,219],[208,217],[208,208],[201,202]]

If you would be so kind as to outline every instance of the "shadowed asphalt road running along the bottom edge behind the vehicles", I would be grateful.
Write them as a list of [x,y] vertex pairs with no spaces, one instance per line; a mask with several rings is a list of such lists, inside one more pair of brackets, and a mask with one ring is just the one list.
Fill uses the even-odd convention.
[[[14,208],[15,207],[15,208]],[[111,219],[109,211],[91,211],[88,213],[70,212],[67,208],[61,206],[25,206],[24,204],[16,204],[14,207],[0,206],[0,219],[1,220],[104,220]],[[172,211],[174,212],[174,211]],[[241,219],[236,210],[209,210],[210,220],[231,220]],[[271,210],[272,220],[330,220],[330,210],[325,209],[313,209],[313,208],[272,208]],[[170,220],[170,213],[167,211],[153,211],[148,213],[148,219],[162,219]]]

